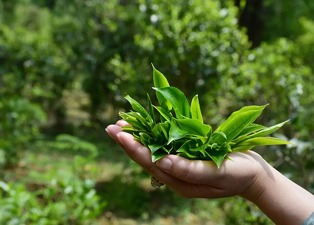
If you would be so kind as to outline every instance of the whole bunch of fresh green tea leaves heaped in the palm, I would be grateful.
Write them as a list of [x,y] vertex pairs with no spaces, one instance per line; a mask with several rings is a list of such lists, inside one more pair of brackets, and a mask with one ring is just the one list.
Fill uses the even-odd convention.
[[[261,145],[288,145],[285,140],[264,137],[278,130],[288,121],[265,127],[253,124],[268,105],[245,106],[212,132],[211,126],[203,123],[196,95],[191,106],[183,92],[170,87],[164,75],[153,66],[154,86],[160,106],[152,105],[147,95],[148,111],[130,96],[125,98],[134,111],[119,115],[131,126],[122,130],[149,148],[155,162],[167,154],[177,154],[188,159],[213,160],[218,168],[228,153],[251,150]],[[157,123],[156,118],[160,118]]]

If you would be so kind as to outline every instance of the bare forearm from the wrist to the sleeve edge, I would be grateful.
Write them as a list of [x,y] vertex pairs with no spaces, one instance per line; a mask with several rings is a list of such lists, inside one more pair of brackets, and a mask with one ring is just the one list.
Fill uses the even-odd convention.
[[263,169],[254,187],[242,197],[255,203],[276,225],[301,225],[314,211],[314,195],[268,163]]

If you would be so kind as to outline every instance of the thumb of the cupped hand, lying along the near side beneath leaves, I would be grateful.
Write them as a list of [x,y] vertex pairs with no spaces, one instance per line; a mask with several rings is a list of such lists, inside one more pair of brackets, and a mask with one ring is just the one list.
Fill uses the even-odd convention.
[[195,184],[219,182],[223,173],[213,161],[188,160],[178,155],[167,155],[159,159],[157,166],[170,175]]

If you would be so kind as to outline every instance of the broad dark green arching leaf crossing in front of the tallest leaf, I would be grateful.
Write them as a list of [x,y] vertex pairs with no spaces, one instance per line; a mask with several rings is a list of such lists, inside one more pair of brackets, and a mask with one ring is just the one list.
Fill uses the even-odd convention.
[[163,97],[165,97],[171,103],[172,107],[175,110],[177,118],[182,119],[182,116],[191,118],[190,106],[182,91],[175,87],[153,89],[162,94]]

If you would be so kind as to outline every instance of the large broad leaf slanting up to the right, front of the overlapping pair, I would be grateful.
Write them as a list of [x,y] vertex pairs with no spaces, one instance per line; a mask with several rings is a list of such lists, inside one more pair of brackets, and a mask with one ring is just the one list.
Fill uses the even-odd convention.
[[262,110],[263,108],[243,112],[236,115],[232,120],[230,120],[228,124],[226,124],[221,130],[221,132],[226,134],[227,142],[234,139],[236,135],[238,135],[244,129],[244,127],[253,123],[256,118],[262,113]]

